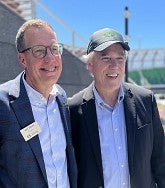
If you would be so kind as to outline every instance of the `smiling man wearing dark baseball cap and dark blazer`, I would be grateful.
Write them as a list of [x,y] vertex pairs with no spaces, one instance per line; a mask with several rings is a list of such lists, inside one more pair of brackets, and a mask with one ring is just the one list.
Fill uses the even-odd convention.
[[68,100],[78,188],[165,188],[165,137],[153,93],[124,83],[130,47],[96,31],[87,49],[93,83]]

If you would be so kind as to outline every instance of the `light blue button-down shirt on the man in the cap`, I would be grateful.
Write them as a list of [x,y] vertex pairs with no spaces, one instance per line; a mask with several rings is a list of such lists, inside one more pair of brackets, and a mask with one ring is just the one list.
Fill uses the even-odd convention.
[[124,92],[120,87],[114,108],[106,104],[93,85],[100,136],[105,188],[130,188]]

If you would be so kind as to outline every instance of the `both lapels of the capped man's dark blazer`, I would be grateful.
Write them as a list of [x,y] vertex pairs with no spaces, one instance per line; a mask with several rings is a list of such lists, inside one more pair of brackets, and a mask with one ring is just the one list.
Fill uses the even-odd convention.
[[[136,134],[136,108],[135,100],[131,89],[128,86],[124,85],[124,92],[124,110],[127,131],[128,162],[130,174],[132,174]],[[89,132],[89,138],[95,155],[96,163],[98,164],[101,175],[103,175],[96,107],[91,85],[86,89],[83,99],[85,102],[83,102],[82,104],[82,110],[86,121],[87,130]]]

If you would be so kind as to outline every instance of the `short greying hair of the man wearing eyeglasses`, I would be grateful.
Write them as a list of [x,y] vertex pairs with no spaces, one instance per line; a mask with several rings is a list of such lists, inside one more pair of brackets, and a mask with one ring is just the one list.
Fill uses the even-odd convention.
[[53,30],[51,25],[49,25],[46,21],[40,19],[31,19],[26,21],[19,29],[15,39],[15,45],[18,52],[21,52],[25,48],[25,32],[32,27],[41,28],[41,27],[49,27]]

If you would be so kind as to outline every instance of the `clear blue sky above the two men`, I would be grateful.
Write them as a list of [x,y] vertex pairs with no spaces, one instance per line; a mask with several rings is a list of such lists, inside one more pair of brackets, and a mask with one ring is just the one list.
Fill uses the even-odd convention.
[[[55,29],[59,42],[71,45],[72,33],[78,33],[89,42],[91,34],[109,27],[125,35],[124,9],[128,6],[130,16],[128,33],[131,49],[165,48],[165,1],[164,0],[39,0],[49,14],[37,5],[38,18],[48,21]],[[69,29],[59,24],[54,13]],[[75,46],[86,47],[77,37]]]

